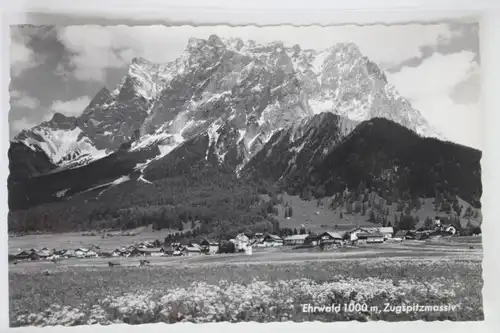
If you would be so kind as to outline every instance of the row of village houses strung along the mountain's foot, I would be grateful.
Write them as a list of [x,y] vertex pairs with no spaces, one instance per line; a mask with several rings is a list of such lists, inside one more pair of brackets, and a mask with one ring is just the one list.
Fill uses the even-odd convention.
[[[75,249],[25,249],[16,254],[9,254],[9,261],[17,264],[20,261],[53,261],[70,258],[128,258],[159,256],[197,256],[216,255],[221,253],[245,253],[252,255],[253,249],[287,246],[292,249],[313,249],[318,251],[335,251],[346,246],[361,244],[381,244],[386,242],[403,242],[405,240],[424,240],[435,237],[453,237],[457,230],[451,225],[441,224],[436,218],[432,227],[417,230],[398,230],[393,227],[357,226],[344,232],[324,231],[321,233],[304,233],[281,237],[271,233],[255,233],[254,235],[238,234],[229,240],[215,241],[203,238],[201,242],[167,243],[166,240],[141,241],[132,245],[121,246],[112,251],[101,249],[98,245]],[[141,265],[147,260],[141,261]],[[113,262],[110,261],[112,266]]]

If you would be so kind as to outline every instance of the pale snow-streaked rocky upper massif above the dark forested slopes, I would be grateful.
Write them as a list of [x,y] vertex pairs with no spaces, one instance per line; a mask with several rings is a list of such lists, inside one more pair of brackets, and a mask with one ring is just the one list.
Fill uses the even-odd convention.
[[[161,154],[213,126],[240,133],[238,168],[275,131],[321,112],[354,121],[384,117],[439,136],[352,43],[323,51],[238,38],[191,38],[175,61],[135,58],[113,91],[103,88],[78,118],[42,123],[15,138],[59,167],[85,165],[135,138]],[[35,148],[37,146],[38,148]],[[222,154],[222,153],[221,153]]]

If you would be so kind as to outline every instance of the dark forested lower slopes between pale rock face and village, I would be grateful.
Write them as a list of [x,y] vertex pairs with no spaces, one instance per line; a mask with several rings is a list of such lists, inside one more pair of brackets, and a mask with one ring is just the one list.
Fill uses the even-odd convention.
[[[337,126],[333,126],[334,124]],[[440,209],[449,209],[440,208],[446,207],[445,205],[450,207],[449,205],[453,204],[455,207],[454,202],[462,197],[468,200],[469,207],[480,207],[482,189],[479,151],[437,139],[422,138],[411,130],[383,118],[355,126],[348,135],[342,135],[342,118],[331,113],[315,115],[300,124],[290,125],[273,135],[241,170],[239,177],[234,171],[234,165],[237,165],[239,160],[235,161],[229,157],[221,161],[208,133],[198,134],[160,158],[157,158],[158,151],[134,152],[133,143],[129,143],[122,148],[121,157],[115,159],[110,155],[82,166],[79,168],[82,169],[78,172],[79,176],[72,175],[77,169],[70,169],[54,173],[51,179],[44,180],[48,175],[38,177],[37,181],[45,182],[46,185],[32,187],[35,192],[38,190],[36,196],[47,199],[50,193],[40,190],[52,186],[53,200],[33,206],[36,198],[31,197],[28,206],[17,209],[11,206],[9,228],[23,230],[23,223],[27,223],[30,228],[35,228],[33,230],[43,229],[45,227],[37,224],[40,214],[48,216],[44,223],[56,223],[50,230],[80,230],[102,226],[103,223],[123,227],[132,223],[131,220],[135,221],[133,223],[154,223],[158,227],[172,226],[177,225],[177,222],[173,221],[186,221],[187,216],[201,219],[204,221],[203,225],[210,230],[217,220],[228,223],[228,228],[253,228],[255,223],[270,218],[267,204],[260,206],[263,203],[259,203],[259,189],[268,191],[266,188],[273,187],[281,188],[291,195],[299,194],[306,200],[314,197],[318,200],[334,200],[348,189],[355,194],[349,199],[354,200],[351,205],[356,203],[356,198],[363,197],[366,191],[378,195],[381,200],[388,202],[388,205],[389,202],[399,205],[413,202],[417,200],[415,198],[435,197],[436,202],[439,198],[436,214],[440,214]],[[394,137],[400,138],[399,142],[393,140]],[[413,143],[408,145],[408,140]],[[366,145],[381,148],[374,149]],[[392,145],[401,148],[393,149]],[[234,148],[234,141],[230,146]],[[301,146],[302,148],[298,149]],[[414,149],[419,146],[421,148]],[[325,152],[324,149],[328,147],[331,149]],[[406,147],[411,148],[411,152],[408,152]],[[370,154],[364,153],[363,149]],[[390,152],[393,152],[392,155]],[[373,158],[374,156],[377,158]],[[272,173],[266,177],[262,167],[269,165],[270,161],[274,162],[268,169]],[[460,165],[457,165],[457,162]],[[121,169],[115,166],[121,166]],[[293,166],[297,166],[296,169]],[[411,169],[408,166],[411,166]],[[97,178],[93,176],[96,172],[101,174]],[[63,178],[58,178],[61,176]],[[436,179],[442,181],[436,182]],[[71,182],[76,183],[71,185]],[[89,183],[92,183],[91,188]],[[418,185],[419,183],[422,184]],[[81,184],[85,184],[84,187],[81,187]],[[411,184],[418,186],[413,187]],[[324,185],[323,189],[321,185]],[[79,192],[66,190],[79,186]],[[238,192],[239,189],[244,190]],[[33,191],[20,189],[17,193],[22,196],[31,192]],[[230,207],[233,208],[226,206],[226,200],[230,200],[229,197],[236,192],[241,193],[243,197],[233,199],[237,202],[242,200],[243,206],[238,206],[237,202],[231,204]],[[15,193],[12,188],[9,189],[9,204],[14,204]],[[346,204],[348,202],[342,205]],[[240,208],[238,213],[227,215],[219,206],[229,210],[236,206]],[[252,210],[248,215],[245,212],[250,207],[262,209]],[[140,215],[143,214],[140,213],[141,209],[150,213],[146,216]],[[126,213],[136,210],[136,213]],[[348,214],[348,211],[344,213]],[[96,216],[101,217],[96,220]],[[393,217],[387,218],[394,223]],[[30,222],[26,222],[26,219]],[[68,222],[63,227],[58,224],[62,223],[60,221]]]

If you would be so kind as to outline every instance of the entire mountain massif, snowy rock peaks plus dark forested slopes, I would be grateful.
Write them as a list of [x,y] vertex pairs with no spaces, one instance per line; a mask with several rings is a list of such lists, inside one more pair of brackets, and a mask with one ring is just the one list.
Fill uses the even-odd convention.
[[[193,212],[206,205],[198,188],[206,182],[222,197],[242,195],[228,199],[241,203],[237,217],[212,212],[207,223],[240,219],[264,183],[317,197],[360,184],[395,199],[439,192],[480,206],[481,152],[442,140],[355,44],[316,51],[191,38],[175,61],[134,58],[116,89],[102,88],[80,116],[55,113],[13,139],[9,225],[42,211],[45,221],[67,218],[62,211],[82,202],[98,220],[122,221],[117,211],[146,203],[165,219],[180,205],[166,191],[184,193]],[[79,214],[74,224],[95,220]]]

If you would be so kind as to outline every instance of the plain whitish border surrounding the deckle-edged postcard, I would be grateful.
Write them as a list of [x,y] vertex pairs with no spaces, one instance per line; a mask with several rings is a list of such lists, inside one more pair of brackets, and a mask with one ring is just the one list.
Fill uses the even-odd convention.
[[[8,24],[167,24],[167,25],[329,25],[329,24],[376,24],[405,23],[419,21],[442,21],[456,18],[480,17],[480,44],[482,67],[482,105],[484,114],[483,145],[483,246],[484,246],[484,322],[399,322],[399,323],[239,323],[239,324],[150,324],[150,325],[112,325],[79,326],[72,328],[11,328],[8,327],[8,300],[0,297],[0,331],[8,332],[316,332],[349,331],[366,332],[421,332],[454,330],[455,332],[497,332],[500,328],[500,288],[495,278],[500,276],[498,265],[500,246],[500,221],[497,221],[498,194],[500,179],[495,166],[500,162],[500,149],[495,143],[500,142],[500,1],[498,0],[0,0],[3,7],[1,39],[3,78],[0,96],[2,99],[2,123],[0,174],[0,210],[3,219],[0,222],[0,241],[2,267],[0,295],[8,294],[7,273],[7,189],[8,175],[8,111],[9,110],[9,60],[8,60]],[[179,4],[180,3],[180,4]],[[42,15],[25,15],[26,12],[38,12]],[[104,15],[113,19],[104,20]],[[237,326],[235,326],[237,325]],[[5,327],[5,329],[4,329]],[[495,327],[497,329],[495,329]]]

